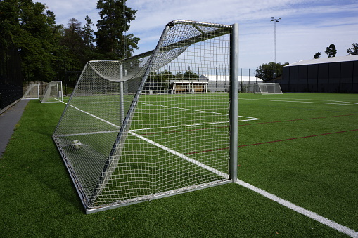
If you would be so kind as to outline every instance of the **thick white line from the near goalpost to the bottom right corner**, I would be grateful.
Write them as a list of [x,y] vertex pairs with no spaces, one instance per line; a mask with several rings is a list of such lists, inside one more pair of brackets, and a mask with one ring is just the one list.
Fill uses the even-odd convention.
[[328,227],[331,227],[335,230],[338,230],[339,232],[342,232],[344,234],[347,234],[350,237],[358,238],[358,232],[355,230],[352,230],[348,227],[345,227],[344,225],[340,225],[333,220],[329,220],[328,218],[324,218],[323,216],[318,215],[317,213],[314,213],[312,211],[309,211],[307,209],[302,208],[301,206],[297,206],[290,201],[287,201],[285,199],[281,199],[280,197],[275,196],[274,194],[271,194],[269,192],[266,192],[264,190],[261,190],[258,187],[255,187],[253,185],[250,185],[249,183],[245,183],[242,180],[237,180],[236,183],[239,185],[248,188],[249,190],[252,190],[254,192],[257,192],[258,194],[261,194],[264,197],[267,197],[268,199],[271,199],[272,201],[276,201],[277,203],[286,206],[288,209],[291,209],[293,211],[296,211],[298,213],[301,213],[302,215],[305,215],[313,220],[317,220],[319,223],[327,225]]

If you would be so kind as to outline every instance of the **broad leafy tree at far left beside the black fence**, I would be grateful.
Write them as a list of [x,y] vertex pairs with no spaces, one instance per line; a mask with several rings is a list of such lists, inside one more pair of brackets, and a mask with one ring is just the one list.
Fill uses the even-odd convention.
[[1,15],[5,12],[4,27],[21,55],[23,75],[41,81],[55,77],[59,36],[55,15],[32,0],[5,0],[0,8]]

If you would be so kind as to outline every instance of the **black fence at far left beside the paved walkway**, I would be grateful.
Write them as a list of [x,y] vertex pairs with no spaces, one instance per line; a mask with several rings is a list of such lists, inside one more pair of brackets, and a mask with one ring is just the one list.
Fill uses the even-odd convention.
[[21,59],[13,44],[0,45],[0,110],[23,96]]

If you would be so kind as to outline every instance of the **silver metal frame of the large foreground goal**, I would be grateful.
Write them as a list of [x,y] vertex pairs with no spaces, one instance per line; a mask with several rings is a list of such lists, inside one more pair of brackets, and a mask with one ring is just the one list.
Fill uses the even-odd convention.
[[[96,189],[94,190],[94,194],[92,195],[92,197],[87,197],[87,195],[85,195],[83,193],[83,188],[81,187],[81,185],[79,185],[79,183],[77,183],[77,176],[75,171],[72,170],[68,159],[66,158],[65,154],[62,152],[62,150],[59,147],[59,143],[57,143],[56,137],[53,135],[53,140],[55,140],[56,145],[58,146],[58,149],[61,152],[61,156],[63,157],[63,161],[65,161],[65,164],[67,165],[66,167],[68,168],[68,171],[70,173],[70,176],[75,184],[75,187],[77,189],[77,192],[79,193],[79,196],[81,197],[82,200],[82,204],[85,207],[86,213],[94,213],[97,211],[103,211],[103,210],[107,210],[107,209],[113,209],[116,207],[120,207],[120,206],[127,206],[130,204],[136,204],[139,202],[143,202],[143,201],[148,201],[148,200],[141,200],[141,201],[129,201],[126,204],[109,204],[106,206],[102,206],[102,207],[96,207],[96,208],[89,208],[87,207],[86,202],[90,202],[94,199],[96,199],[96,197],[98,196],[98,194],[101,194],[102,190],[103,190],[103,186],[106,185],[106,183],[108,183],[108,180],[110,179],[110,177],[112,176],[113,173],[113,169],[115,169],[115,167],[113,167],[113,164],[117,164],[118,163],[118,159],[119,157],[117,156],[117,154],[120,154],[122,152],[122,147],[124,147],[124,142],[126,141],[127,135],[129,134],[129,128],[131,126],[132,123],[132,117],[134,115],[134,112],[136,110],[137,104],[139,102],[139,98],[141,97],[141,93],[143,91],[143,88],[145,87],[146,81],[149,79],[150,77],[150,72],[151,72],[151,67],[152,64],[154,62],[154,60],[158,57],[158,54],[160,53],[160,47],[162,46],[162,41],[165,39],[165,36],[167,34],[167,32],[169,31],[170,27],[172,27],[175,24],[188,24],[188,25],[195,25],[195,26],[214,26],[214,27],[219,27],[222,25],[218,25],[218,24],[212,24],[212,23],[205,23],[205,22],[194,22],[194,21],[188,21],[188,20],[175,20],[173,22],[170,22],[166,25],[163,33],[162,33],[162,37],[160,37],[160,40],[158,41],[158,45],[155,48],[154,51],[148,51],[147,53],[143,53],[141,55],[150,55],[150,60],[148,62],[148,65],[146,65],[146,70],[143,74],[143,77],[141,79],[141,82],[139,84],[139,87],[134,95],[134,99],[132,100],[132,105],[130,105],[129,110],[127,112],[127,114],[124,115],[124,113],[122,113],[122,105],[119,105],[119,107],[121,108],[121,113],[120,115],[118,115],[121,118],[122,121],[122,126],[120,127],[120,131],[117,134],[117,138],[115,140],[115,143],[113,144],[113,148],[108,156],[108,159],[106,161],[106,166],[104,166],[103,171],[101,173],[101,177],[98,180],[98,183],[96,185]],[[169,191],[169,192],[162,192],[162,193],[158,193],[158,194],[153,194],[153,196],[151,196],[151,199],[158,199],[161,197],[169,197],[175,194],[181,194],[183,192],[191,192],[194,190],[200,190],[203,189],[205,187],[212,187],[212,186],[216,186],[216,185],[221,185],[224,183],[236,183],[237,180],[237,156],[238,156],[238,24],[235,23],[234,25],[226,25],[226,27],[230,27],[231,28],[231,33],[230,33],[230,52],[229,52],[229,58],[230,58],[230,91],[229,91],[229,127],[230,127],[230,131],[231,133],[228,135],[229,138],[229,161],[227,166],[229,167],[229,175],[228,178],[226,180],[224,180],[223,182],[219,182],[219,183],[203,183],[200,186],[196,186],[193,188],[190,187],[186,187],[185,190],[177,190],[177,191]],[[211,33],[211,32],[210,32]],[[213,36],[212,34],[205,34],[205,37],[207,37],[207,39],[211,39],[214,38],[215,36]],[[193,41],[196,41],[195,37],[193,37],[192,39],[186,39],[185,41],[187,41],[186,43],[188,44],[192,44]],[[180,47],[179,43],[183,43],[183,42],[176,42],[171,44],[169,47],[172,48],[178,48]],[[194,42],[195,43],[195,42]],[[168,46],[166,46],[168,47]],[[140,55],[134,56],[132,58],[136,58],[139,57]],[[83,72],[82,72],[83,74]],[[122,78],[125,75],[125,72],[123,72],[122,68],[120,68],[120,78]],[[120,97],[122,97],[122,90],[123,90],[123,86],[122,86],[122,82],[120,84]],[[78,86],[78,83],[77,83]],[[77,88],[76,86],[76,88]],[[75,89],[76,89],[75,88]],[[73,93],[72,96],[70,98],[70,101],[73,97]],[[66,106],[65,110],[67,110],[68,107],[70,106],[70,101],[68,103],[68,105]],[[121,102],[123,102],[123,100],[120,100]],[[85,112],[86,113],[86,112]],[[91,115],[92,117],[96,117],[94,115]],[[62,117],[61,117],[62,119]],[[61,120],[60,119],[60,120]],[[57,130],[57,128],[56,128]],[[131,132],[133,134],[133,132]],[[147,140],[148,143],[152,143],[151,141]],[[164,150],[167,150],[167,148],[163,147]],[[170,150],[170,149],[169,149]],[[173,152],[172,152],[173,153]],[[174,154],[174,153],[173,153]],[[186,158],[184,158],[186,159]],[[189,158],[190,159],[190,158]],[[187,159],[188,160],[188,159]],[[201,164],[200,162],[193,162],[191,161],[193,164],[196,164],[198,166],[201,166],[203,168],[203,164]],[[204,165],[205,166],[205,165]],[[217,172],[215,172],[217,173]],[[86,202],[85,202],[86,201]]]

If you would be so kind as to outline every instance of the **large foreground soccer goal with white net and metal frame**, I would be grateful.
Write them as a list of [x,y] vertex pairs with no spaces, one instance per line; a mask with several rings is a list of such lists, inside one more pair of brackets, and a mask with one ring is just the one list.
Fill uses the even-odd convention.
[[[172,94],[188,64],[230,69],[230,93]],[[237,79],[237,24],[174,20],[153,51],[88,62],[53,133],[86,213],[236,181]]]

